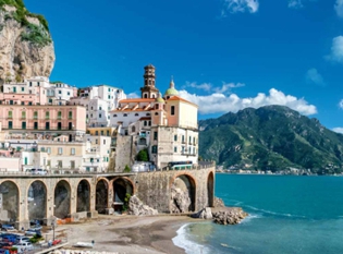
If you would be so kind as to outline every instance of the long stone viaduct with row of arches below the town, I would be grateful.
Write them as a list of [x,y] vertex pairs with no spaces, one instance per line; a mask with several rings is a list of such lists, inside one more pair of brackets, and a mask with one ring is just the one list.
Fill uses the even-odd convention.
[[0,219],[28,228],[30,220],[46,225],[95,218],[111,208],[121,210],[126,194],[171,213],[172,186],[191,198],[188,211],[212,206],[215,167],[137,173],[0,174]]

